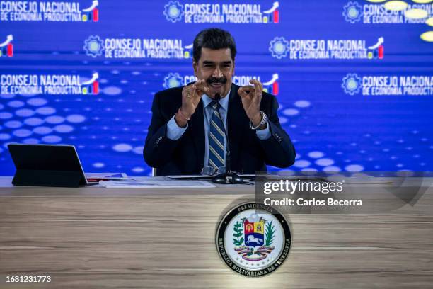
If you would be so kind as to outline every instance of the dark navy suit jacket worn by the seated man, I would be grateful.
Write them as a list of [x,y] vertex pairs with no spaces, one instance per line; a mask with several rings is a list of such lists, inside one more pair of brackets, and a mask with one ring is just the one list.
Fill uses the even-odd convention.
[[[182,89],[159,91],[152,104],[152,119],[144,146],[144,160],[156,168],[157,176],[200,174],[204,163],[203,103],[200,101],[179,140],[166,136],[167,123],[182,106]],[[266,164],[281,168],[294,163],[295,150],[289,135],[281,128],[275,96],[263,92],[260,111],[268,116],[271,137],[260,140],[250,128],[243,110],[239,86],[232,84],[227,126],[231,149],[231,170],[244,174],[266,171]]]

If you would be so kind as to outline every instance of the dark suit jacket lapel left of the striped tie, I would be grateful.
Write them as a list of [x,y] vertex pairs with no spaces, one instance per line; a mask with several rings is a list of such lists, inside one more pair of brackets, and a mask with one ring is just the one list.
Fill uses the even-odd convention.
[[202,169],[204,163],[204,120],[203,120],[203,101],[191,115],[191,133],[194,140],[195,152],[197,152],[197,167]]

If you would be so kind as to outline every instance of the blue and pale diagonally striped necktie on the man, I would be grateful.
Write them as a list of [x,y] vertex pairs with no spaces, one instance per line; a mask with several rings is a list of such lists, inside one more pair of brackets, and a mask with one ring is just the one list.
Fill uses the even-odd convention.
[[221,107],[219,103],[212,101],[209,106],[214,109],[209,127],[209,166],[218,169],[225,166],[224,125],[217,110],[218,106]]

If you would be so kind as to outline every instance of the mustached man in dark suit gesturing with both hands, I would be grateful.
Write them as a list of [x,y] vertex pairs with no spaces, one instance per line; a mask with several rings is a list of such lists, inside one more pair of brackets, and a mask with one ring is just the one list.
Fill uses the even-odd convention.
[[217,171],[226,166],[227,149],[231,170],[245,174],[266,171],[266,164],[294,163],[294,146],[279,125],[275,96],[263,92],[255,79],[249,86],[231,83],[235,56],[230,33],[203,30],[192,48],[198,80],[155,94],[144,159],[157,176]]

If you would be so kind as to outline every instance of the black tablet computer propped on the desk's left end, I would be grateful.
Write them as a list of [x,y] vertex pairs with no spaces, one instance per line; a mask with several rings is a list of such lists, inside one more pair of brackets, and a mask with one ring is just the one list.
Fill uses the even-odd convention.
[[15,186],[86,186],[83,166],[73,145],[9,144],[16,167]]

